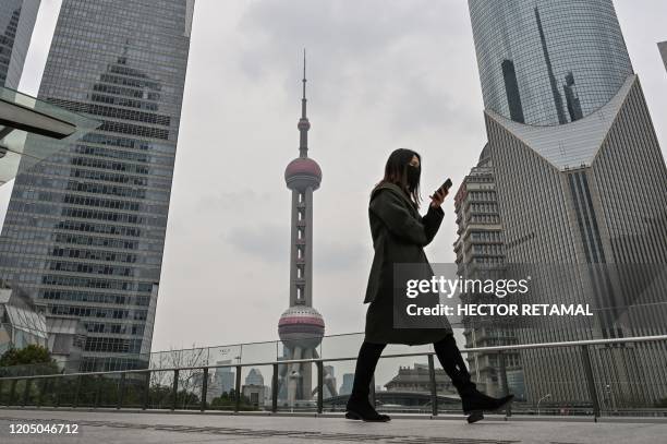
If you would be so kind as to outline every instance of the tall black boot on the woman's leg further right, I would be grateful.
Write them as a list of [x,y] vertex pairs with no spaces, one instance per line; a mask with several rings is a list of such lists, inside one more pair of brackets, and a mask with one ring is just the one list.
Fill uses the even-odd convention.
[[435,343],[434,349],[442,369],[461,397],[463,413],[468,415],[469,423],[484,419],[484,411],[496,411],[508,406],[514,398],[514,395],[494,398],[477,391],[452,335]]

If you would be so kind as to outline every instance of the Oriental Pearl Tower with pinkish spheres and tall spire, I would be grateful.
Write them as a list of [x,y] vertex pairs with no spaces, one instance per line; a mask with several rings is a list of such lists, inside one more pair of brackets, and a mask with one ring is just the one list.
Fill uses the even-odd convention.
[[[317,346],[324,336],[322,314],[313,308],[313,191],[319,188],[322,169],[308,157],[308,130],[305,97],[305,51],[303,57],[303,97],[299,120],[299,157],[284,169],[284,181],[292,191],[290,251],[290,307],[278,322],[278,335],[283,344],[283,359],[318,358]],[[279,398],[290,407],[313,399],[313,364],[281,365]],[[330,396],[336,395],[331,375],[324,375]]]

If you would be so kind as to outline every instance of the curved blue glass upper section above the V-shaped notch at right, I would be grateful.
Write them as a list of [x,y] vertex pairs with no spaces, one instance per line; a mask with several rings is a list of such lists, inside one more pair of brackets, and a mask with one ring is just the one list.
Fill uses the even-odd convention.
[[632,73],[611,0],[470,0],[487,109],[514,121],[571,122]]

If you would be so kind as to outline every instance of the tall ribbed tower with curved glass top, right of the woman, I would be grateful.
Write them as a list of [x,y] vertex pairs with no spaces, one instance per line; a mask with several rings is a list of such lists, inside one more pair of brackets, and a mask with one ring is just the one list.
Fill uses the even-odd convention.
[[[563,320],[520,329],[519,341],[664,334],[667,168],[611,0],[469,7],[507,263],[583,265],[543,299],[594,297],[598,308],[624,311],[622,324],[605,309],[594,328]],[[586,272],[593,265],[603,274]],[[632,266],[647,280],[623,278]],[[623,307],[628,295],[642,303]],[[664,344],[595,347],[592,358],[597,392],[608,394],[603,408],[667,397]],[[521,364],[529,401],[549,394],[560,405],[590,403],[579,350],[525,351]]]

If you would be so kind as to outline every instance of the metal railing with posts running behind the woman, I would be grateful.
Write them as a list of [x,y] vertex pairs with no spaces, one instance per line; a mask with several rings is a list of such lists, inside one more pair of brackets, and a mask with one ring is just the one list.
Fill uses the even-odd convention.
[[[504,388],[504,393],[508,393],[508,383],[507,383],[507,374],[506,374],[506,365],[505,365],[505,352],[507,351],[518,351],[518,350],[529,350],[529,349],[549,349],[549,348],[578,348],[581,350],[583,370],[585,373],[585,382],[587,386],[589,393],[589,401],[592,407],[592,415],[595,419],[601,416],[601,403],[599,403],[599,394],[596,388],[593,367],[591,363],[591,346],[601,346],[601,345],[620,345],[620,344],[636,344],[636,343],[657,343],[657,341],[667,341],[667,335],[659,336],[642,336],[642,337],[627,337],[627,338],[613,338],[613,339],[590,339],[590,340],[577,340],[577,341],[560,341],[560,343],[542,343],[542,344],[522,344],[522,345],[508,345],[508,346],[496,346],[496,347],[478,347],[478,348],[465,348],[462,349],[462,353],[489,353],[495,352],[499,357],[500,363],[500,379],[501,379],[501,387]],[[428,380],[429,380],[429,395],[430,395],[430,415],[438,415],[438,393],[436,385],[436,375],[435,375],[435,362],[434,362],[434,351],[417,351],[417,352],[403,352],[403,353],[387,353],[381,356],[381,359],[390,359],[390,358],[407,358],[407,357],[426,357],[428,362]],[[266,367],[270,365],[272,368],[271,375],[271,406],[270,411],[278,411],[278,391],[279,391],[279,365],[286,365],[291,363],[311,363],[316,367],[316,411],[318,413],[324,412],[324,365],[325,363],[338,362],[338,361],[351,361],[355,360],[356,357],[341,357],[341,358],[319,358],[319,359],[292,359],[292,360],[272,360],[272,361],[259,361],[259,362],[244,362],[244,363],[230,363],[230,364],[215,364],[215,365],[194,365],[194,367],[175,367],[175,368],[163,368],[163,369],[141,369],[141,370],[121,370],[121,371],[108,371],[108,372],[88,372],[88,373],[69,373],[69,374],[44,374],[44,375],[32,375],[32,376],[8,376],[0,377],[0,394],[3,393],[5,384],[9,384],[9,394],[7,400],[3,403],[7,407],[11,406],[21,406],[21,407],[43,407],[43,400],[45,396],[49,395],[49,389],[52,388],[52,385],[56,385],[56,388],[50,395],[54,395],[53,407],[60,407],[60,397],[62,393],[59,393],[58,382],[64,379],[75,379],[75,383],[73,386],[73,393],[70,395],[73,397],[73,401],[71,403],[71,407],[99,407],[99,391],[101,389],[101,385],[98,385],[98,393],[95,395],[95,400],[88,404],[81,404],[80,393],[82,387],[82,381],[84,377],[97,377],[98,380],[102,380],[104,376],[117,376],[118,385],[117,385],[117,401],[116,408],[121,409],[123,405],[123,397],[125,395],[125,386],[131,375],[144,375],[145,381],[143,385],[143,398],[142,405],[140,406],[142,409],[149,409],[149,391],[150,391],[150,377],[153,373],[163,373],[163,372],[172,372],[173,380],[171,383],[171,387],[169,388],[169,397],[170,403],[168,405],[168,409],[177,410],[179,407],[178,398],[179,398],[179,374],[181,372],[186,371],[201,371],[202,372],[202,387],[199,391],[201,396],[199,399],[199,410],[207,410],[207,392],[208,392],[208,374],[211,369],[219,368],[230,368],[235,370],[235,382],[234,382],[234,403],[233,403],[233,411],[238,412],[241,410],[241,399],[242,399],[242,386],[241,386],[241,372],[243,368],[247,367]],[[667,371],[667,370],[665,370]],[[17,393],[16,386],[20,382],[24,382],[23,392]],[[56,382],[56,384],[53,384]],[[37,401],[31,404],[28,398],[33,392],[33,384],[37,385]],[[373,388],[373,387],[372,387]],[[375,391],[371,391],[371,396],[374,397]],[[374,399],[373,399],[374,400]],[[511,416],[511,410],[507,410],[507,416]],[[666,411],[667,415],[667,411]]]

